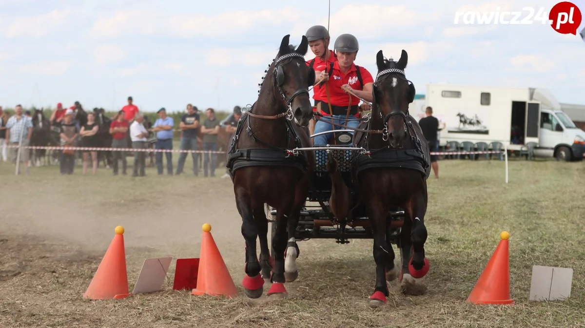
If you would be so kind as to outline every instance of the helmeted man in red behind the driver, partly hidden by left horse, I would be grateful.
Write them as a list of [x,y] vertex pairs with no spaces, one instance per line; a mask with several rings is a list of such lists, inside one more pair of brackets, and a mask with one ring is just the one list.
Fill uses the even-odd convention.
[[[329,50],[329,32],[325,26],[315,25],[309,27],[305,33],[309,42],[311,51],[315,54],[315,58],[307,61],[307,64],[315,70],[315,81],[320,81],[322,77],[328,77],[327,68],[330,64],[335,63],[336,56],[332,50]],[[315,85],[313,88],[313,99],[315,100],[314,111],[319,106],[319,102],[326,101],[325,85]],[[315,120],[311,120],[309,124],[309,132],[312,134],[315,130]]]

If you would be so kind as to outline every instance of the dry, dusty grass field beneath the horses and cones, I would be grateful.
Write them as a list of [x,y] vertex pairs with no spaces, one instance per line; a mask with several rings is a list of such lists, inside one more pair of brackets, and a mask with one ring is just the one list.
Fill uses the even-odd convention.
[[[229,179],[158,177],[154,168],[142,179],[112,177],[103,168],[95,177],[81,177],[79,167],[73,176],[43,167],[15,177],[11,165],[0,163],[0,326],[585,326],[585,163],[510,161],[509,184],[503,161],[440,165],[441,179],[428,181],[428,292],[404,296],[391,284],[388,306],[372,310],[366,307],[375,277],[371,240],[301,241],[300,276],[286,284],[290,298],[247,301],[241,219]],[[213,226],[237,299],[172,289],[175,260],[198,257],[204,222]],[[116,225],[126,228],[130,292],[144,258],[173,256],[163,291],[121,301],[84,300]],[[466,303],[503,230],[511,234],[515,305]],[[570,298],[528,301],[532,265],[573,268]],[[264,288],[266,295],[269,286]]]

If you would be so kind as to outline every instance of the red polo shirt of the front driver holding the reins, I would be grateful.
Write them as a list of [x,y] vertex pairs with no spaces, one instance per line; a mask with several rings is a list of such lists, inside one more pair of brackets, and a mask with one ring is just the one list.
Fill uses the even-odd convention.
[[[346,94],[341,88],[342,85],[349,84],[349,86],[353,89],[362,90],[362,88],[360,88],[360,81],[357,80],[356,71],[356,65],[352,64],[352,67],[349,69],[347,74],[344,75],[339,69],[339,62],[336,61],[335,64],[333,64],[333,73],[329,76],[329,81],[327,81],[327,84],[329,85],[329,98],[331,99],[332,106],[347,107],[349,105],[350,98],[352,106],[360,103],[360,99],[356,98],[355,96]],[[374,78],[371,76],[370,72],[366,70],[366,68],[360,66],[360,73],[362,75],[364,85],[368,83],[374,83]],[[326,96],[323,101],[327,102]]]

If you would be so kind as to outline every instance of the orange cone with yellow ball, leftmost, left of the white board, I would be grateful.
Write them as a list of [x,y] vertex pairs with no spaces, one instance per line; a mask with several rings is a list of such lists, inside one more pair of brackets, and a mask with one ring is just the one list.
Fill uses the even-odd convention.
[[115,232],[116,235],[99,264],[98,271],[95,271],[90,286],[83,294],[84,298],[122,299],[131,295],[128,293],[124,228],[117,226]]

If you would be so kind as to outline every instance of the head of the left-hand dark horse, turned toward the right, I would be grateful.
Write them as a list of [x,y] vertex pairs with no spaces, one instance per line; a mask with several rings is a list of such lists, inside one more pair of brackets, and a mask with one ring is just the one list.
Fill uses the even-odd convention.
[[305,63],[307,37],[302,36],[297,49],[288,44],[289,39],[290,34],[283,37],[276,58],[266,71],[267,76],[272,75],[273,83],[263,84],[260,96],[270,92],[283,105],[282,112],[288,111],[298,126],[306,127],[313,117],[308,89],[315,83],[315,70]]

